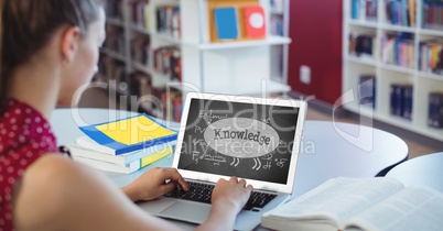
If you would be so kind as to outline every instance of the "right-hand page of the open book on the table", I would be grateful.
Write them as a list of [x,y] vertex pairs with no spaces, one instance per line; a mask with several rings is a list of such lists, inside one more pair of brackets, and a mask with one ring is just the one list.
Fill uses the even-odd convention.
[[347,227],[363,230],[441,230],[443,194],[411,186],[349,219]]

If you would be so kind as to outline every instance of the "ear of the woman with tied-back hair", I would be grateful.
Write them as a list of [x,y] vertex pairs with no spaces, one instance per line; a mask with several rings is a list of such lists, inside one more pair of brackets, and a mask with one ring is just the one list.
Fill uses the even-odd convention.
[[69,26],[65,30],[62,37],[62,58],[63,63],[69,64],[78,50],[80,40],[80,29],[78,26]]

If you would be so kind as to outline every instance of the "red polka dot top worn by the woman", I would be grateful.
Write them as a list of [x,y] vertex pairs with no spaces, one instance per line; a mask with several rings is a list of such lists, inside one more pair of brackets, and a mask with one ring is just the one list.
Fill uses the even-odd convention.
[[48,152],[57,152],[57,146],[46,119],[29,105],[7,100],[0,112],[0,231],[14,230],[14,184],[28,166]]

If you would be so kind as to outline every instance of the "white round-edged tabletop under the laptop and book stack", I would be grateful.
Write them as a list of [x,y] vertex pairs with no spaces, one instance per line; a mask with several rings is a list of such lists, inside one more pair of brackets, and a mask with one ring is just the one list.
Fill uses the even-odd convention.
[[[107,109],[57,109],[51,118],[58,145],[84,135],[79,125],[111,121],[134,112]],[[166,122],[179,129],[179,124]],[[335,127],[334,127],[335,125]],[[359,135],[357,135],[359,134]],[[365,148],[367,151],[365,151]],[[408,157],[408,146],[388,132],[348,123],[306,121],[296,168],[293,197],[311,190],[333,177],[374,177]],[[117,186],[125,186],[152,166],[171,166],[172,157],[130,175],[106,173]]]

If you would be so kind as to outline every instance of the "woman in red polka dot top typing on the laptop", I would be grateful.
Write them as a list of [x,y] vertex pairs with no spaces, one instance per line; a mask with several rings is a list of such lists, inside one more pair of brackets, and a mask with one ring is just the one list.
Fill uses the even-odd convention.
[[[0,0],[0,231],[176,230],[132,202],[175,184],[187,190],[176,169],[151,169],[119,190],[57,152],[47,119],[97,72],[105,40],[100,2]],[[197,229],[233,229],[250,191],[244,179],[219,180]]]

